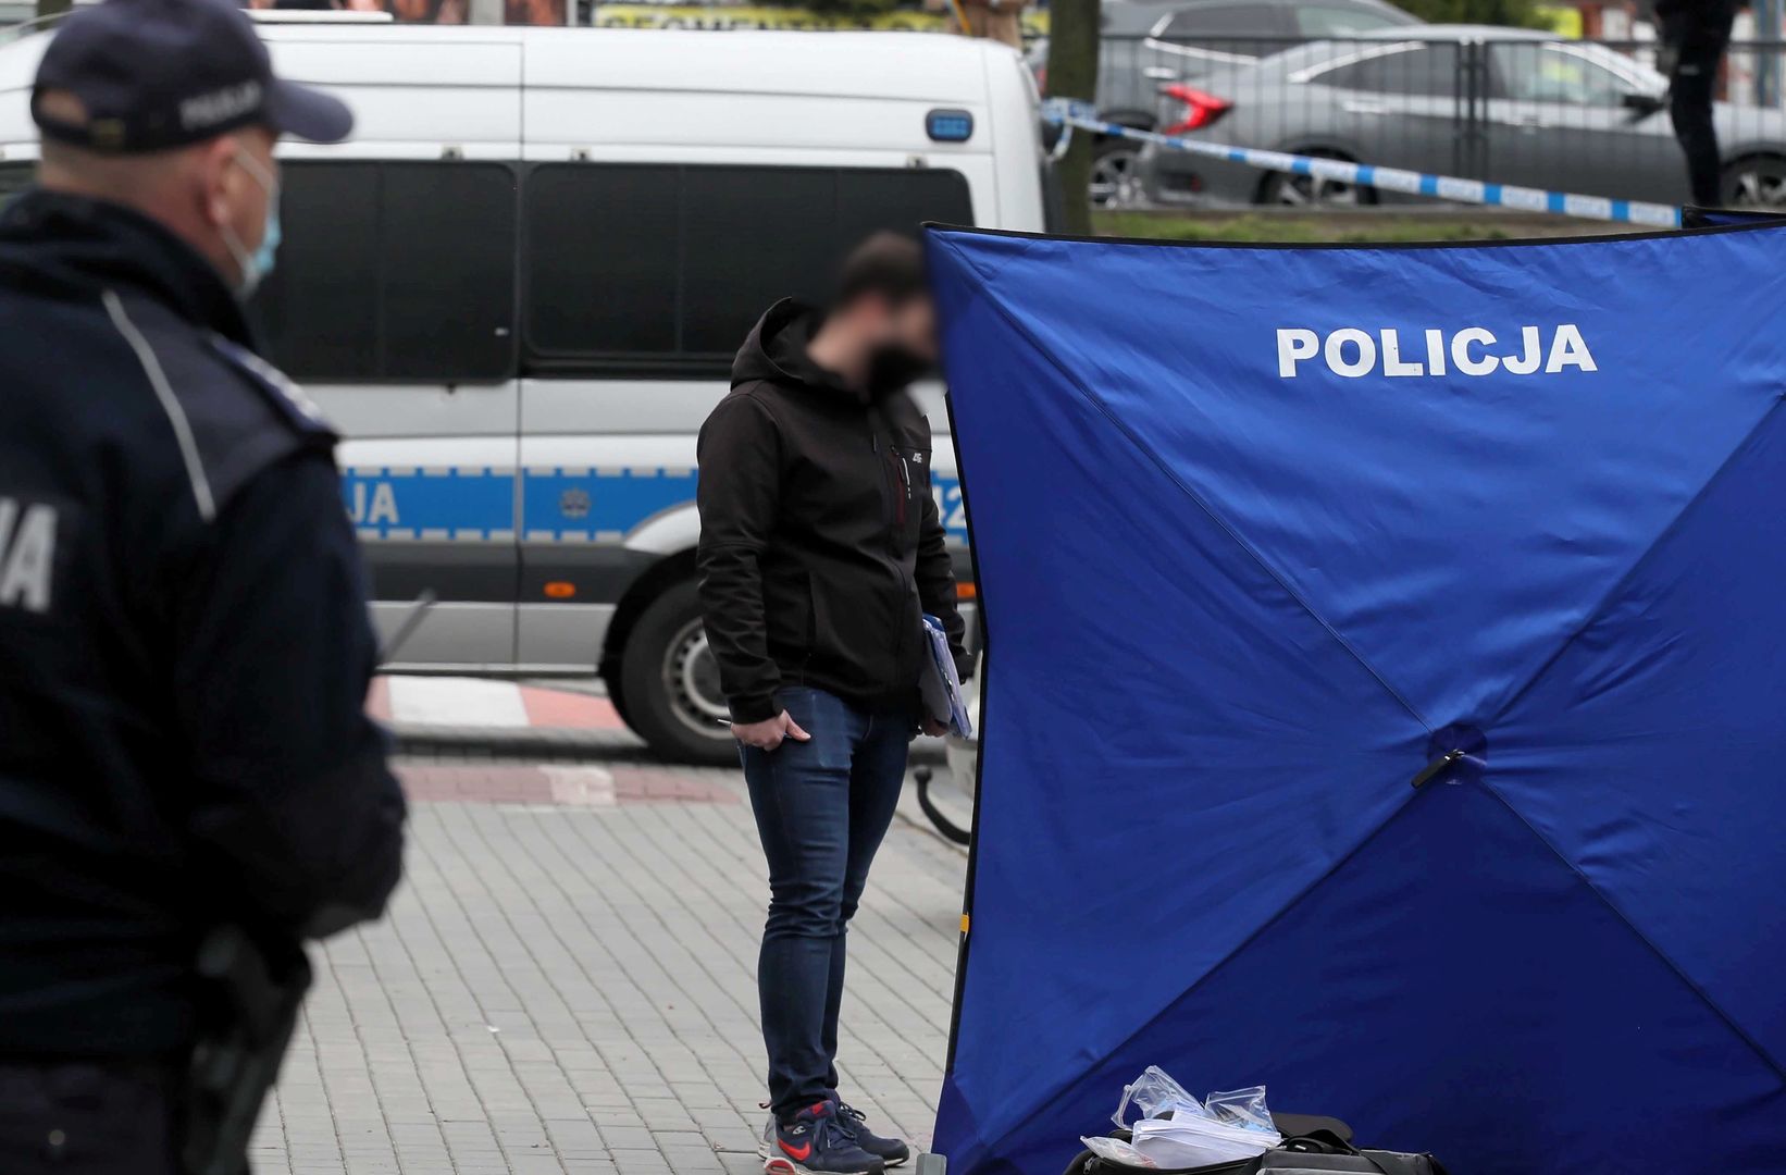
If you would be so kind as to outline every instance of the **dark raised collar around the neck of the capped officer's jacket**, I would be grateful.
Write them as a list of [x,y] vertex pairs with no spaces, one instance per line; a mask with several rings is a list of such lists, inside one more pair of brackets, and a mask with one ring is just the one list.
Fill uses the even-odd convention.
[[236,295],[191,245],[120,204],[34,188],[0,214],[0,273],[52,296],[125,286],[250,350]]

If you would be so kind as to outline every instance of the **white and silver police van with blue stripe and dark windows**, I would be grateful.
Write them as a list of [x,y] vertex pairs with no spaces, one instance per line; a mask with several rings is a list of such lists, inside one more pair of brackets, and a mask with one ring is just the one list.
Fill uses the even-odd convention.
[[[695,432],[755,318],[925,220],[1043,227],[1036,91],[989,41],[268,23],[357,116],[284,145],[273,359],[346,438],[405,673],[600,673],[657,750],[729,761],[695,602]],[[41,45],[0,50],[0,179]],[[939,389],[932,427],[947,432]],[[934,484],[968,579],[954,454]]]

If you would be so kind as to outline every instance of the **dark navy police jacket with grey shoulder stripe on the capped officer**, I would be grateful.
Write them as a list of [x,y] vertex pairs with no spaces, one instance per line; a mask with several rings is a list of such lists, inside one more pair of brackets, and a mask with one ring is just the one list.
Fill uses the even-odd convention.
[[7,207],[0,339],[0,1057],[173,1054],[209,927],[396,884],[334,436],[116,205]]

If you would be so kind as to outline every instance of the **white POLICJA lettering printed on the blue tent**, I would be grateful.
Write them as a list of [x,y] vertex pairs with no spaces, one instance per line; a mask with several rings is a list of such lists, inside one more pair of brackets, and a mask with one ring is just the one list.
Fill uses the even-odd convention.
[[1445,338],[1443,330],[1425,330],[1425,339],[1415,343],[1409,352],[1402,352],[1402,336],[1395,327],[1379,330],[1375,338],[1366,330],[1345,327],[1334,330],[1323,341],[1313,330],[1279,327],[1277,330],[1277,373],[1282,379],[1298,375],[1297,364],[1316,355],[1327,370],[1343,379],[1363,379],[1381,371],[1382,375],[1445,375],[1447,359],[1459,375],[1491,375],[1509,371],[1513,375],[1534,375],[1540,370],[1547,375],[1565,368],[1598,371],[1588,341],[1581,338],[1581,329],[1563,323],[1550,330],[1548,346],[1541,327],[1520,327],[1520,348],[1511,355],[1495,355],[1488,348],[1495,346],[1495,332],[1482,327],[1465,327]]

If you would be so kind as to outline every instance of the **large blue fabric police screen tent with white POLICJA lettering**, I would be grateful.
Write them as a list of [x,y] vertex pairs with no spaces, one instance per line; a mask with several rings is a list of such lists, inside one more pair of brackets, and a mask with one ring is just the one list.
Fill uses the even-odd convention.
[[929,254],[952,1175],[1148,1064],[1465,1175],[1786,1171],[1786,229]]

